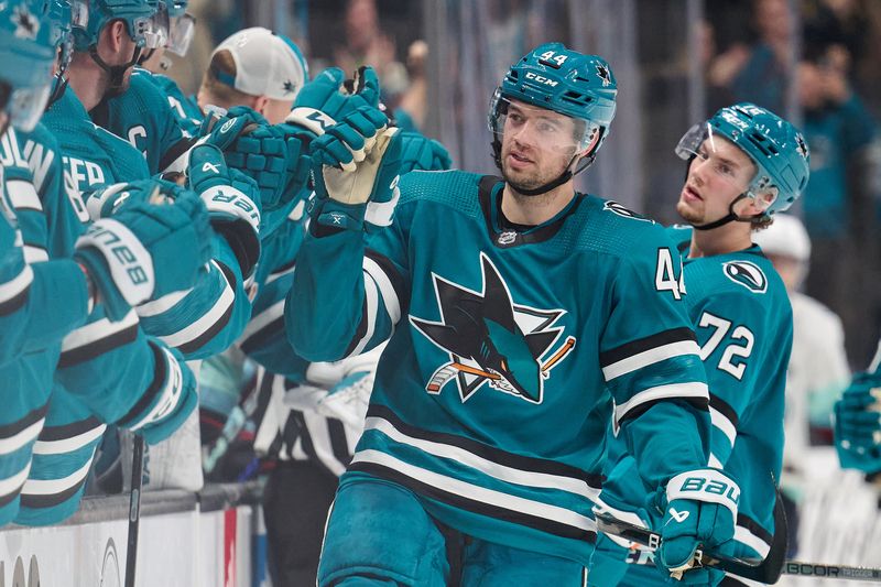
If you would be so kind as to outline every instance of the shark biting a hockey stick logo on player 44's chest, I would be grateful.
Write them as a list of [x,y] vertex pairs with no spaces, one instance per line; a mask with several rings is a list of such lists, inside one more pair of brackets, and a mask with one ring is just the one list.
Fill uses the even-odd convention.
[[428,340],[449,354],[449,362],[432,376],[425,390],[440,393],[454,376],[463,403],[485,384],[526,402],[542,403],[544,380],[575,347],[575,337],[552,327],[565,309],[537,309],[514,304],[492,261],[480,253],[482,292],[434,274],[440,322],[410,317]]

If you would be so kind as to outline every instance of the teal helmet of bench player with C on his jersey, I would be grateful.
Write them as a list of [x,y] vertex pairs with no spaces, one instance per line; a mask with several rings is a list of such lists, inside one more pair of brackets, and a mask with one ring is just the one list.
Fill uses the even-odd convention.
[[164,46],[168,35],[167,11],[160,11],[159,2],[160,0],[88,0],[87,24],[74,26],[76,51],[88,51],[97,45],[105,25],[116,20],[126,23],[129,36],[139,47]]

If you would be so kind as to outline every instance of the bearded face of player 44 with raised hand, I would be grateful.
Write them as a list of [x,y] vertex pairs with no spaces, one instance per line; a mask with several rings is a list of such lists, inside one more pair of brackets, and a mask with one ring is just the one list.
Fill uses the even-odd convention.
[[502,127],[502,175],[533,189],[556,180],[576,153],[575,121],[564,115],[512,100]]

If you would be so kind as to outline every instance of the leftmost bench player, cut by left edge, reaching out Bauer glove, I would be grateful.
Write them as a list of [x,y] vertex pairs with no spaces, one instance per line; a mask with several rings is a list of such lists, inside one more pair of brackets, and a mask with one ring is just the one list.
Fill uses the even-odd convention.
[[[154,265],[152,259],[167,254],[164,251],[168,246],[175,248],[183,242],[191,246],[202,242],[204,246],[196,244],[194,252],[202,251],[205,256],[210,235],[203,206],[191,198],[194,206],[188,213],[183,203],[180,209],[163,210],[165,218],[159,222],[154,221],[157,217],[150,216],[153,213],[146,214],[148,210],[123,213],[113,219],[113,224],[96,222],[90,235],[77,240],[79,221],[62,192],[57,146],[43,127],[34,127],[50,94],[50,72],[55,56],[55,41],[47,37],[50,25],[44,20],[44,2],[32,1],[10,2],[0,8],[0,22],[11,23],[14,28],[0,26],[3,76],[10,83],[10,89],[22,85],[23,91],[15,98],[17,108],[26,107],[25,110],[33,115],[22,117],[21,111],[13,110],[13,122],[21,135],[17,138],[15,131],[10,129],[0,148],[0,162],[8,178],[9,209],[14,213],[20,239],[26,243],[20,259],[29,262],[13,280],[11,286],[15,295],[4,301],[8,302],[4,311],[9,313],[2,319],[3,348],[21,350],[25,355],[0,367],[4,403],[0,422],[3,446],[0,456],[0,523],[10,521],[19,509],[19,492],[29,476],[34,441],[46,418],[46,402],[53,387],[62,338],[81,325],[93,307],[96,313],[102,313],[104,308],[112,305],[121,317],[128,312],[123,308],[151,298],[153,293],[164,295],[191,286],[204,257],[188,256],[171,271]],[[13,19],[12,14],[17,18]],[[37,32],[33,39],[20,34],[23,25]],[[29,76],[37,81],[36,87],[23,81]],[[34,91],[32,99],[26,99],[26,91],[34,89],[39,91]],[[203,236],[194,241],[193,236],[199,226],[204,228]],[[152,293],[143,286],[135,289],[127,284],[126,272],[120,271],[122,268],[101,243],[101,230],[112,231],[123,239],[135,252],[132,262],[153,265],[142,274],[143,285],[150,284]],[[188,280],[187,271],[192,271]],[[132,425],[144,427],[145,433],[146,428],[152,428],[150,434],[159,437],[163,434],[162,426],[173,425],[180,413],[186,413],[183,400],[188,399],[192,409],[193,392],[182,392],[181,383],[167,385],[167,389],[176,391],[177,399],[182,400],[180,403],[168,402],[168,398],[162,395],[139,396],[130,389],[124,394],[100,396],[99,402],[93,403],[112,421],[131,412],[128,415]],[[163,400],[162,413],[151,411],[155,410],[157,400]]]

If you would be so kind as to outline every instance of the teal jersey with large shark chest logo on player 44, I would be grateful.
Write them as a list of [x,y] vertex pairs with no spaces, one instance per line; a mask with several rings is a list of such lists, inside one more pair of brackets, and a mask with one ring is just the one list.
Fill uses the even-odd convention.
[[503,184],[460,171],[400,182],[393,224],[315,237],[285,319],[336,360],[389,339],[352,464],[469,535],[587,566],[613,418],[663,486],[706,464],[707,387],[664,230],[577,195],[525,231]]

